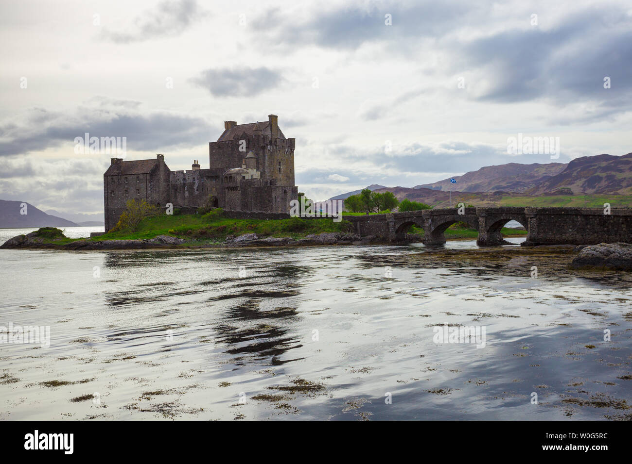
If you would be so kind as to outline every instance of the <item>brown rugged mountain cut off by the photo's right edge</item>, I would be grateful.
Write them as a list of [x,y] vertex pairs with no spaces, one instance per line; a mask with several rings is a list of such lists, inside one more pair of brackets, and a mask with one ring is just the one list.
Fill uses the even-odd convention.
[[575,158],[562,172],[526,193],[632,194],[632,153]]

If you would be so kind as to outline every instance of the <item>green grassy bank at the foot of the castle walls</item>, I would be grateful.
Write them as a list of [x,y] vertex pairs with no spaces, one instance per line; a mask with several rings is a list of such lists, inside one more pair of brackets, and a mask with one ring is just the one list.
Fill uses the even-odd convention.
[[255,233],[266,237],[300,238],[322,232],[348,232],[346,221],[318,219],[230,219],[217,215],[160,215],[145,218],[137,232],[119,231],[93,237],[91,241],[150,239],[157,235],[172,235],[188,241],[222,242],[228,235]]

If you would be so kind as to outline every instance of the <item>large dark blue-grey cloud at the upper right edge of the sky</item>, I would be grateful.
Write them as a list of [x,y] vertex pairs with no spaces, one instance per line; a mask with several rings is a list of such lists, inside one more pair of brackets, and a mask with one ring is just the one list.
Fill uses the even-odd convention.
[[[485,68],[494,82],[480,100],[568,101],[581,95],[622,106],[621,93],[632,90],[632,28],[625,12],[619,13],[590,9],[552,30],[506,31],[475,40],[464,49],[463,67]],[[612,79],[611,92],[604,89],[605,76]]]

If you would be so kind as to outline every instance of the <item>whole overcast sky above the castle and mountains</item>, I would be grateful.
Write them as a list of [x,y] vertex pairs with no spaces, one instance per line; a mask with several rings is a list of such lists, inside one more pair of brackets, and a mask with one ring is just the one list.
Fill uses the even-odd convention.
[[84,133],[204,168],[224,121],[271,113],[313,199],[551,162],[507,154],[518,133],[632,152],[629,0],[21,0],[0,42],[0,198],[44,210],[102,211]]

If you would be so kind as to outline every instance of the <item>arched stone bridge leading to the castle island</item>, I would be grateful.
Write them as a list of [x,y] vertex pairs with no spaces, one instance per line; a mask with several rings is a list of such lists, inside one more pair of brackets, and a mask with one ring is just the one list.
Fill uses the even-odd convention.
[[444,232],[456,222],[465,222],[478,230],[477,244],[502,244],[501,229],[518,221],[528,231],[524,246],[601,242],[632,243],[632,210],[617,209],[604,213],[603,208],[521,208],[485,207],[405,211],[379,215],[343,216],[361,235],[377,235],[389,241],[401,241],[412,225],[423,229],[423,244],[446,242]]

